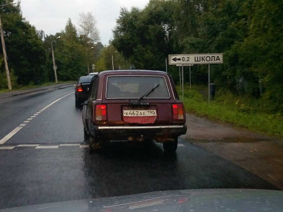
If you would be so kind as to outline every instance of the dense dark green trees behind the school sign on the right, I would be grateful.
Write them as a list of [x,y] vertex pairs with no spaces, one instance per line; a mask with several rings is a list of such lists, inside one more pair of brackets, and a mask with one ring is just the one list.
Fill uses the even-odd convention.
[[[165,70],[168,54],[223,53],[224,64],[211,65],[218,88],[282,111],[282,15],[278,0],[151,0],[121,9],[112,43],[137,69]],[[169,72],[178,82],[178,68]],[[207,65],[192,67],[193,83],[207,81]]]

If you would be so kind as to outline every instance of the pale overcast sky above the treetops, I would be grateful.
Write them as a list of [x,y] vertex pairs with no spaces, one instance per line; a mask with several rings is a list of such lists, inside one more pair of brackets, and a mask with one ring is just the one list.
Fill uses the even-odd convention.
[[78,26],[78,14],[92,12],[97,20],[101,42],[108,44],[120,8],[143,8],[148,2],[149,0],[21,0],[21,9],[30,24],[48,35],[65,29],[69,17]]

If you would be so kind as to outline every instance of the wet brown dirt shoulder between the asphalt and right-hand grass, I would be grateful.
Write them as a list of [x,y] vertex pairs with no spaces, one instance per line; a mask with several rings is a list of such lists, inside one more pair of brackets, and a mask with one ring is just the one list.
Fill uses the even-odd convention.
[[182,138],[283,189],[283,143],[248,130],[187,115]]

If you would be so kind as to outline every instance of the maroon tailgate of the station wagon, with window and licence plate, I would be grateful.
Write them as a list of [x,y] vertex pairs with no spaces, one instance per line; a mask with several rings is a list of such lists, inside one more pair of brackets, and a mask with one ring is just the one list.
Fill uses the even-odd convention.
[[107,104],[109,125],[172,123],[175,100],[166,74],[108,75],[104,82],[103,104]]

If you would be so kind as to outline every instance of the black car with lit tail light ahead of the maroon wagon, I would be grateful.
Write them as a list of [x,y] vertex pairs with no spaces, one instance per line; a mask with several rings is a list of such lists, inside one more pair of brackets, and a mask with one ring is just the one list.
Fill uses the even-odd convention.
[[93,76],[80,77],[75,88],[75,105],[79,107],[81,103],[88,99],[89,85]]

